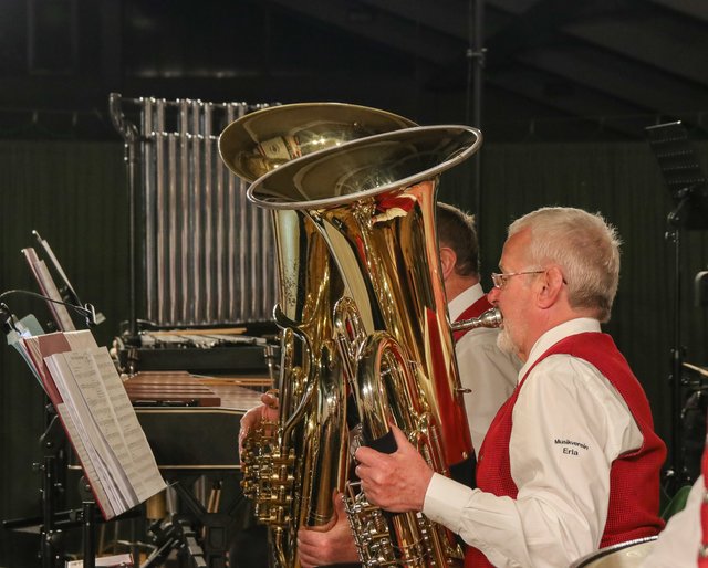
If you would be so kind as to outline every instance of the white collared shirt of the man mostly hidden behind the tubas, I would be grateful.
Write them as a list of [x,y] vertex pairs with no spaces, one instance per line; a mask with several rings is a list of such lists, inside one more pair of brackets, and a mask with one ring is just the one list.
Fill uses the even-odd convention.
[[[475,284],[449,304],[450,322],[485,295],[481,284]],[[472,445],[479,452],[489,424],[499,407],[511,396],[517,385],[521,361],[497,347],[499,329],[479,327],[465,334],[455,344],[460,383],[469,390],[464,396],[465,410],[472,434]]]

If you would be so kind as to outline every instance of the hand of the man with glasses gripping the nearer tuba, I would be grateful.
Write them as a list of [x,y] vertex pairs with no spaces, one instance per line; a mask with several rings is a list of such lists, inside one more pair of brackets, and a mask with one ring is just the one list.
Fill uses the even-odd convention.
[[408,442],[406,434],[391,425],[398,449],[391,454],[371,448],[356,450],[356,476],[372,505],[393,513],[423,511],[433,470]]

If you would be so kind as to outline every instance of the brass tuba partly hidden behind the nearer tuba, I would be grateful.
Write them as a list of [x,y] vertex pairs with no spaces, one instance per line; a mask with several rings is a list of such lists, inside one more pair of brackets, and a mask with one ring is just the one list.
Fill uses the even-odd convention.
[[[264,108],[231,123],[219,137],[227,167],[252,182],[292,159],[357,138],[415,126],[383,111],[339,103]],[[296,533],[333,514],[347,469],[345,372],[336,345],[335,306],[344,282],[324,239],[303,211],[273,209],[281,329],[279,421],[243,443],[243,492],[269,526],[272,561],[298,567]],[[345,311],[345,303],[339,304]],[[351,372],[351,370],[350,370]]]

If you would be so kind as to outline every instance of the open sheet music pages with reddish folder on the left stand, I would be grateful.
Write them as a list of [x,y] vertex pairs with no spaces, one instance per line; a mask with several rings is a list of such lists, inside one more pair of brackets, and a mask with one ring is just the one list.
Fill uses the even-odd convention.
[[[88,330],[21,339],[104,517],[166,487],[113,359]],[[60,410],[61,409],[61,410]]]

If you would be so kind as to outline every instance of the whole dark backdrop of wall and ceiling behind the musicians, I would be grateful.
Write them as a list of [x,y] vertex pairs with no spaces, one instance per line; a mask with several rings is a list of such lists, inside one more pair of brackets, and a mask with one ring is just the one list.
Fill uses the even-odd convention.
[[[106,316],[100,344],[127,318],[127,197],[111,92],[337,101],[420,124],[473,124],[487,140],[481,183],[464,164],[444,175],[440,198],[480,213],[482,272],[497,267],[519,214],[602,211],[624,240],[607,330],[670,441],[677,322],[685,359],[708,365],[706,308],[693,294],[708,243],[705,231],[684,232],[677,290],[665,239],[674,203],[644,128],[683,119],[708,170],[707,31],[708,6],[677,0],[2,0],[0,292],[37,290],[20,255],[37,230]],[[483,81],[472,73],[480,35]],[[35,301],[7,303],[49,319]],[[39,514],[43,404],[19,356],[0,348],[1,519]],[[35,536],[0,529],[0,566],[33,566],[35,551]]]

